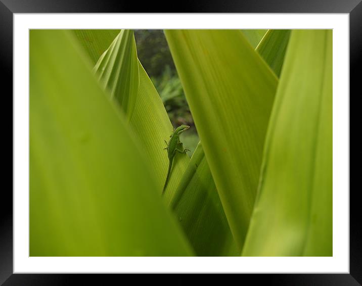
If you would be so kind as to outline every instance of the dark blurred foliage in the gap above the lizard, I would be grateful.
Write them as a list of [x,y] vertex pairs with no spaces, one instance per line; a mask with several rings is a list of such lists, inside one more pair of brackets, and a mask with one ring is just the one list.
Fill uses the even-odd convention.
[[163,30],[134,30],[134,37],[138,58],[160,95],[172,125],[191,126],[181,136],[184,145],[190,149],[191,156],[199,142],[199,136]]

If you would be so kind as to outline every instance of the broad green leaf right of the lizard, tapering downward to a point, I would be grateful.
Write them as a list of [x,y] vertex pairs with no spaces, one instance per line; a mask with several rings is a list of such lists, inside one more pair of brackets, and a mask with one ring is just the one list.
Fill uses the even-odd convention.
[[166,30],[225,215],[242,248],[278,79],[239,30]]

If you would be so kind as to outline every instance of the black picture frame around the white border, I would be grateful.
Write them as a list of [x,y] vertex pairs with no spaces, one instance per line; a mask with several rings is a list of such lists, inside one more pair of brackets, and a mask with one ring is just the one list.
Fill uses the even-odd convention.
[[[350,28],[350,94],[360,95],[357,91],[359,64],[362,54],[362,2],[361,0],[254,0],[254,1],[221,1],[199,0],[167,3],[136,3],[129,1],[97,1],[97,0],[0,0],[0,67],[4,99],[12,106],[13,93],[13,14],[14,13],[348,13]],[[162,4],[161,4],[162,3]],[[178,11],[175,9],[178,8]],[[4,89],[7,87],[7,89]],[[358,93],[357,93],[358,92]],[[348,96],[348,94],[346,94]],[[350,99],[350,96],[349,96]],[[3,110],[12,110],[10,107]],[[9,117],[7,117],[9,118]],[[3,120],[3,122],[8,122]],[[355,122],[355,121],[353,121]],[[7,127],[4,124],[3,130]],[[13,127],[13,126],[12,126]],[[8,127],[11,128],[12,127]],[[12,129],[13,130],[13,129]],[[9,131],[10,133],[10,131]],[[5,134],[5,132],[3,133]],[[8,142],[10,146],[10,140]],[[12,137],[13,138],[13,137]],[[11,143],[14,142],[11,140]],[[12,146],[11,146],[12,148]],[[4,151],[6,149],[3,149]],[[12,149],[13,150],[13,149]],[[10,152],[4,152],[10,154]],[[3,164],[5,166],[5,164]],[[11,165],[13,166],[13,164]],[[9,168],[10,169],[10,168]],[[12,172],[11,168],[11,172]],[[5,178],[5,176],[4,176]],[[10,180],[9,178],[7,178]],[[346,189],[350,192],[350,262],[349,274],[240,274],[251,278],[254,284],[261,282],[278,285],[360,285],[362,283],[362,225],[360,223],[359,204],[357,194],[359,188]],[[87,281],[96,284],[108,284],[110,279],[118,279],[107,274],[13,274],[13,194],[12,188],[3,188],[1,192],[0,208],[0,284],[4,285],[68,285],[87,284]],[[148,283],[167,283],[176,281],[181,284],[189,279],[189,274],[177,275],[172,280],[159,275],[145,274],[135,277],[127,274],[132,283],[141,280]],[[246,276],[247,275],[247,276]],[[217,282],[215,275],[210,275]],[[240,277],[241,279],[245,279]],[[239,279],[240,279],[239,278]],[[204,278],[203,278],[204,279]],[[224,278],[223,282],[225,281]],[[118,280],[122,282],[122,280]],[[242,282],[244,280],[240,280]]]

